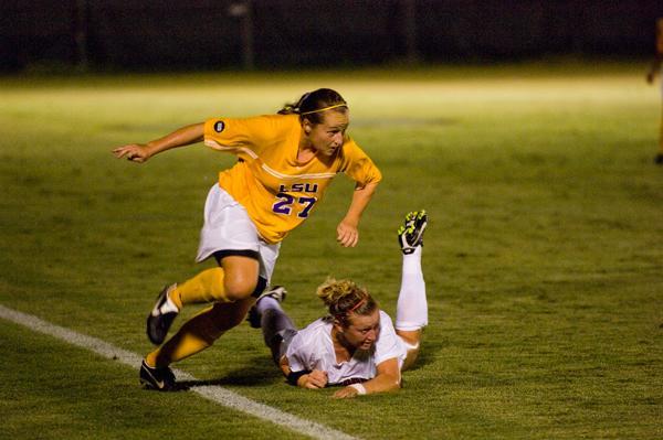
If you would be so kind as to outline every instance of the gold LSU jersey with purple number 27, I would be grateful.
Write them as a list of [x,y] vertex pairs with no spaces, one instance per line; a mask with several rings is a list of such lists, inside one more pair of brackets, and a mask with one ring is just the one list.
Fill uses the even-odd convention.
[[219,173],[219,185],[244,206],[271,244],[311,215],[336,173],[346,173],[359,186],[382,179],[347,135],[333,157],[297,162],[301,132],[297,115],[214,118],[204,124],[204,144],[239,158]]

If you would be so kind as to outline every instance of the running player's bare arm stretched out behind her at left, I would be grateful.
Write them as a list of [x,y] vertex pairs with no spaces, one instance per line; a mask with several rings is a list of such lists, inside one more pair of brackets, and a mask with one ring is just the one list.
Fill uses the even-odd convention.
[[201,142],[203,139],[203,124],[186,126],[147,143],[128,143],[118,147],[113,150],[113,154],[117,159],[127,158],[133,162],[143,163],[161,151]]

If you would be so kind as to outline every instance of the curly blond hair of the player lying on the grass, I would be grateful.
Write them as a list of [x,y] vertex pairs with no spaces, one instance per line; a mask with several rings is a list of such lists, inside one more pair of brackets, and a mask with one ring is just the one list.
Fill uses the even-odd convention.
[[323,300],[329,310],[329,314],[344,326],[350,324],[351,313],[366,315],[378,308],[378,303],[370,293],[350,280],[337,281],[334,278],[328,278],[317,288],[316,294]]

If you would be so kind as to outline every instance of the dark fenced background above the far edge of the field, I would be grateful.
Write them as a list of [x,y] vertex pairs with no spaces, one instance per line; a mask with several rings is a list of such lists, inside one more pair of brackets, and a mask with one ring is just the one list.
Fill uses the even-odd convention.
[[0,0],[0,71],[635,58],[657,17],[663,0]]

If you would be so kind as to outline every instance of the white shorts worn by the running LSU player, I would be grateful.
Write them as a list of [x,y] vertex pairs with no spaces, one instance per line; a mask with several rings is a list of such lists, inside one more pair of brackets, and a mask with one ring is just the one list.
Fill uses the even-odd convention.
[[281,243],[270,245],[260,237],[246,210],[218,183],[210,189],[196,261],[203,261],[217,251],[233,255],[233,250],[253,250],[259,254],[259,275],[269,286],[280,248]]

